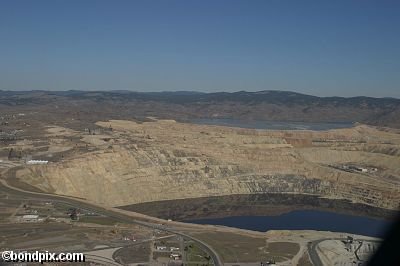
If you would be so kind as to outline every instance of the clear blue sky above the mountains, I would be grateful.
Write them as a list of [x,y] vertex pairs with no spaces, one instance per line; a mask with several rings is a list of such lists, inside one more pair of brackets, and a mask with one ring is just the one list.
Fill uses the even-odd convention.
[[400,1],[0,0],[0,89],[400,97]]

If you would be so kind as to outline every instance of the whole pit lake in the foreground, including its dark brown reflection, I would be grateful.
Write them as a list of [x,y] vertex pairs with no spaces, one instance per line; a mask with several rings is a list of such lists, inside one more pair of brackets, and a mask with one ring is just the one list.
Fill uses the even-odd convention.
[[121,206],[163,219],[254,231],[320,230],[381,237],[396,212],[314,195],[251,194]]

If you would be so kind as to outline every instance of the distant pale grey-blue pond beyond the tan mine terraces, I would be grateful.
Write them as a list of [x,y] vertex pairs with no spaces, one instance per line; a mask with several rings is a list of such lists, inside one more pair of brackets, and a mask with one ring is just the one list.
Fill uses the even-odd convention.
[[272,130],[329,130],[338,128],[350,128],[354,124],[350,122],[343,123],[308,123],[308,122],[276,122],[276,121],[258,121],[258,120],[240,120],[229,118],[216,119],[193,119],[190,122],[204,125],[217,125],[253,129],[272,129]]

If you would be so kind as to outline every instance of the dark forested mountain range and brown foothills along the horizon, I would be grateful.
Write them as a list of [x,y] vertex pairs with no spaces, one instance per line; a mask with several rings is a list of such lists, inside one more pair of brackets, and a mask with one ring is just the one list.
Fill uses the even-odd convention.
[[[1,108],[52,108],[57,112],[93,112],[123,117],[173,119],[238,118],[247,120],[362,122],[400,127],[400,99],[317,97],[290,91],[132,92],[0,91]],[[96,108],[99,107],[99,109]],[[101,109],[100,109],[101,106]],[[85,111],[86,110],[86,111]]]

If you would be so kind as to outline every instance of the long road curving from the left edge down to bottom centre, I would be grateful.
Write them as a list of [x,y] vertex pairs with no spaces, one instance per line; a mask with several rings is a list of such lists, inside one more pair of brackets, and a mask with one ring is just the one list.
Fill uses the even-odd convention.
[[90,210],[92,212],[96,212],[98,214],[113,218],[117,221],[123,222],[123,223],[128,223],[128,224],[138,224],[142,226],[146,226],[152,229],[158,229],[160,231],[165,231],[169,233],[173,233],[179,236],[182,236],[186,239],[192,240],[193,242],[197,243],[204,251],[206,251],[212,258],[214,265],[215,266],[222,266],[223,263],[215,250],[210,247],[208,244],[205,242],[196,239],[190,235],[187,235],[183,232],[180,232],[179,229],[174,228],[174,227],[166,227],[162,224],[157,224],[149,221],[145,221],[145,218],[143,220],[138,220],[136,218],[133,218],[129,215],[113,211],[111,209],[106,209],[101,206],[97,206],[91,203],[88,203],[84,200],[73,198],[73,197],[68,197],[68,196],[61,196],[61,195],[54,195],[54,194],[47,194],[47,193],[39,193],[39,192],[31,192],[31,191],[25,191],[19,188],[14,188],[7,184],[7,182],[2,179],[0,180],[0,190],[5,191],[10,194],[15,194],[21,197],[26,197],[26,198],[39,198],[42,200],[48,200],[52,202],[58,202],[58,203],[63,203],[63,204],[68,204],[68,205],[73,205],[76,208],[80,209],[86,209]]

